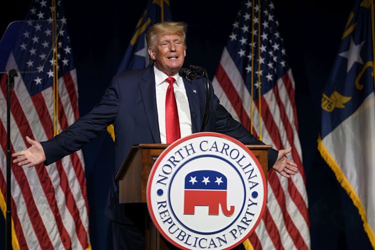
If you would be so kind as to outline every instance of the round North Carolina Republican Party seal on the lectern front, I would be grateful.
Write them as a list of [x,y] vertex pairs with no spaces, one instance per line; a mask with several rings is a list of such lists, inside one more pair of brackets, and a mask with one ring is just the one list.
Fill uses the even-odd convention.
[[183,250],[227,250],[259,224],[267,185],[245,145],[201,132],[163,151],[150,171],[146,196],[155,227],[171,244]]

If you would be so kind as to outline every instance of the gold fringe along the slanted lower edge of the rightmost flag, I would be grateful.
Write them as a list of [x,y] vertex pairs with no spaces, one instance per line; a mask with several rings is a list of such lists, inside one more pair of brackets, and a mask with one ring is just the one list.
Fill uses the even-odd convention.
[[323,141],[321,139],[321,136],[318,137],[318,150],[320,152],[320,155],[324,159],[324,161],[328,164],[328,166],[332,169],[332,171],[335,173],[336,178],[338,182],[341,184],[341,186],[344,188],[344,190],[349,195],[350,199],[353,201],[353,204],[357,207],[361,219],[363,221],[363,227],[365,229],[366,234],[369,237],[370,244],[375,249],[375,235],[374,231],[369,225],[369,222],[367,221],[366,211],[362,205],[362,202],[360,198],[358,197],[358,194],[353,189],[352,185],[350,184],[349,180],[346,178],[345,174],[342,172],[340,166],[336,163],[335,159],[333,159],[332,155],[329,153],[329,151],[326,149],[326,147],[323,144]]

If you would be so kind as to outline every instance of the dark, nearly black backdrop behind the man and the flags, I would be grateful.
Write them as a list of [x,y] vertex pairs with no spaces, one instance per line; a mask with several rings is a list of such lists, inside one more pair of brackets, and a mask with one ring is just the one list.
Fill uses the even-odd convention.
[[[186,65],[205,67],[212,79],[240,0],[170,3],[173,20],[188,24]],[[9,22],[24,19],[28,4],[26,0],[4,2],[0,34]],[[64,5],[77,68],[80,113],[85,115],[116,73],[146,0],[65,0]],[[353,0],[275,0],[279,31],[295,80],[312,250],[372,249],[357,209],[317,151],[321,93],[352,5]],[[112,174],[112,149],[106,133],[83,149],[94,250],[110,249],[110,228],[103,206]],[[1,217],[0,243],[4,242],[4,227]]]

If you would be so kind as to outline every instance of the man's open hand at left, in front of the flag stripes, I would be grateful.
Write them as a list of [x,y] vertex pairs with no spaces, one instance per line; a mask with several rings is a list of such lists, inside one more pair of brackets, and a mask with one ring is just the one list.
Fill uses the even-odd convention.
[[26,141],[31,145],[30,148],[15,152],[12,157],[16,157],[13,163],[17,163],[18,166],[33,167],[46,160],[46,155],[42,145],[38,141],[31,140],[30,137],[26,136]]

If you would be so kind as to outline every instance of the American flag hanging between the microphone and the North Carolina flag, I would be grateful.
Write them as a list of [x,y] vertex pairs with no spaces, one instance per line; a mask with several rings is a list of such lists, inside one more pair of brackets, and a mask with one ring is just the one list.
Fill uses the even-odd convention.
[[252,249],[310,249],[310,226],[302,153],[298,139],[294,80],[271,0],[244,1],[215,77],[214,91],[232,116],[266,144],[292,147],[299,173],[284,178],[271,170],[268,202]]

